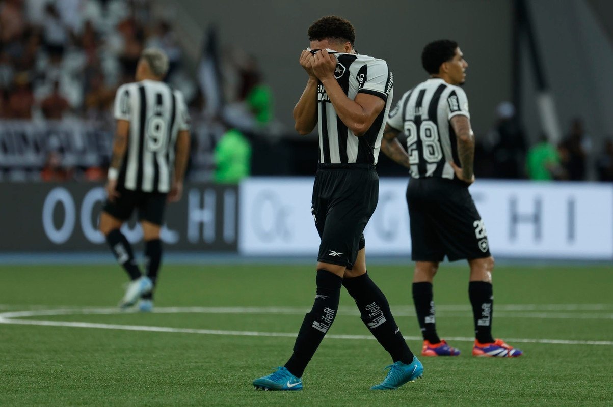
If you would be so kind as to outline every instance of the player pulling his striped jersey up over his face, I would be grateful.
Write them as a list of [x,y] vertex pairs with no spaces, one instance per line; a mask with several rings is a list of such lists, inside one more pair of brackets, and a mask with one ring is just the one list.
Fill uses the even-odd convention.
[[338,312],[341,286],[356,301],[362,321],[392,357],[374,390],[395,389],[424,368],[400,334],[387,299],[366,271],[364,228],[378,201],[375,164],[392,99],[392,73],[383,59],[359,55],[349,21],[329,16],[308,29],[300,54],[308,75],[294,108],[295,129],[319,130],[319,164],[311,212],[321,237],[313,308],[300,327],[294,353],[276,372],[255,379],[265,390],[300,390],[302,373]]

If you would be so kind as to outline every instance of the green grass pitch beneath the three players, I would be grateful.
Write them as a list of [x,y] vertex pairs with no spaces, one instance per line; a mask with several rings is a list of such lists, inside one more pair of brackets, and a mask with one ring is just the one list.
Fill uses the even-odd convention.
[[[411,266],[370,266],[405,337],[419,337]],[[113,307],[126,281],[117,266],[2,266],[0,312]],[[613,340],[609,266],[499,266],[494,272],[495,337]],[[156,307],[286,307],[283,313],[118,313],[20,319],[295,333],[314,296],[310,266],[166,265]],[[468,270],[443,264],[435,280],[440,335],[471,337]],[[601,310],[514,312],[506,304],[603,304]],[[458,305],[449,307],[451,305]],[[351,298],[329,334],[368,335]],[[463,307],[463,308],[462,308]],[[555,308],[555,307],[549,307]],[[592,308],[592,307],[588,307]],[[498,318],[497,318],[498,316]],[[518,318],[532,316],[533,318]],[[534,317],[538,318],[534,318]],[[283,365],[294,338],[0,324],[0,405],[100,406],[587,406],[613,400],[613,346],[514,343],[517,359],[421,357],[424,379],[371,392],[390,363],[375,340],[326,338],[302,392],[258,392],[251,381]],[[408,340],[416,353],[421,341]]]

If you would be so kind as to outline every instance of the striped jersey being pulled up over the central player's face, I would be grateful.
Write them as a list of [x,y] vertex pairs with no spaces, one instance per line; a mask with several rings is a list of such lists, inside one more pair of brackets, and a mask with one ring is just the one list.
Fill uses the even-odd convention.
[[334,77],[349,99],[354,100],[357,94],[367,93],[381,97],[386,105],[370,129],[363,136],[357,137],[337,116],[320,82],[317,89],[319,163],[375,165],[392,102],[394,75],[383,59],[346,53],[335,53],[335,56],[337,68]]

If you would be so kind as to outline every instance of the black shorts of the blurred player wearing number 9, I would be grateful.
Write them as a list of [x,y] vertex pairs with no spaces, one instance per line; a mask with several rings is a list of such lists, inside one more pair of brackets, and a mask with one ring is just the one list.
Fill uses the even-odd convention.
[[123,187],[118,187],[117,192],[120,196],[115,202],[107,200],[102,211],[125,222],[138,209],[139,222],[146,220],[160,226],[164,223],[166,193],[131,191]]

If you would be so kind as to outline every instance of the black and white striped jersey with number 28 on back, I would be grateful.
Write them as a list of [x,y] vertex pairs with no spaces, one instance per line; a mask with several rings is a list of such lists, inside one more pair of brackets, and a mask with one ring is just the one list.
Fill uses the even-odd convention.
[[402,95],[387,124],[406,136],[412,177],[453,179],[449,162],[460,165],[460,159],[449,120],[458,114],[470,118],[466,94],[440,78],[430,78]]

